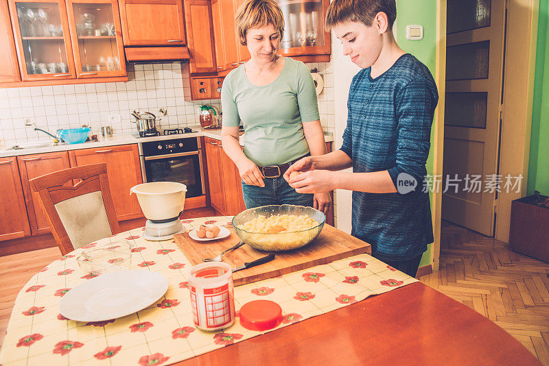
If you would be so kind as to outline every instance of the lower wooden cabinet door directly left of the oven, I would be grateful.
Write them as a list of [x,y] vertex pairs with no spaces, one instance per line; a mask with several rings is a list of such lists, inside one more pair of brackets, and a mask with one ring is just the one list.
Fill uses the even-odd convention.
[[143,217],[137,198],[130,195],[132,186],[143,183],[137,144],[73,150],[69,151],[69,159],[71,167],[105,162],[117,219],[124,221]]

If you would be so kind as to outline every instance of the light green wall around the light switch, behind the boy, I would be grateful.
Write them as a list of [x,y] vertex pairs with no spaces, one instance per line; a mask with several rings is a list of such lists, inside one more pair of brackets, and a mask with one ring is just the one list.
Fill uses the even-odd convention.
[[[412,53],[423,62],[435,77],[436,68],[436,0],[397,0],[397,42],[401,49]],[[407,40],[406,25],[423,25],[422,40]],[[548,93],[549,96],[549,93]],[[434,128],[431,129],[431,153],[427,160],[427,173],[433,173]],[[432,197],[431,197],[432,203]],[[431,245],[421,258],[420,266],[431,263]]]

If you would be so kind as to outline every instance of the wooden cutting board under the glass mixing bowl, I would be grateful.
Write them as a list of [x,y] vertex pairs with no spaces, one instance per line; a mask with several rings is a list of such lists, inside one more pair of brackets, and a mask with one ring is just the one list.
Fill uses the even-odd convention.
[[[198,263],[203,263],[202,258],[213,258],[223,252],[224,249],[232,247],[240,241],[234,230],[232,228],[229,230],[231,230],[230,236],[217,241],[195,241],[189,237],[188,233],[176,234],[174,240],[183,250],[191,265],[198,265]],[[233,273],[233,281],[235,286],[239,286],[240,284],[248,284],[316,265],[323,265],[357,254],[371,254],[371,252],[372,249],[369,243],[325,224],[322,232],[309,245],[288,252],[273,252],[276,255],[274,260]],[[238,249],[226,252],[222,259],[235,268],[269,253],[255,250],[244,244]]]

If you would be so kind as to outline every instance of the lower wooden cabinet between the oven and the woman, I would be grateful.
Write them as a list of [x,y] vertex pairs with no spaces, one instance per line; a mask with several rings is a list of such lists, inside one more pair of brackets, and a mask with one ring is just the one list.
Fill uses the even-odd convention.
[[221,141],[205,137],[204,142],[211,206],[223,215],[236,215],[246,210],[240,173],[233,160],[223,151]]

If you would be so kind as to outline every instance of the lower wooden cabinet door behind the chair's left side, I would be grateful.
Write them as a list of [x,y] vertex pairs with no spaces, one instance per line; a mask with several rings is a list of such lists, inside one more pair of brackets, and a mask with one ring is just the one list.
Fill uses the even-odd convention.
[[[19,173],[21,173],[21,184],[25,196],[25,206],[29,217],[30,231],[32,235],[47,234],[49,223],[47,222],[38,193],[32,192],[29,180],[40,177],[40,175],[53,173],[69,168],[69,156],[67,151],[18,156]],[[68,184],[71,184],[69,182]]]

